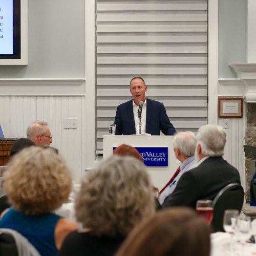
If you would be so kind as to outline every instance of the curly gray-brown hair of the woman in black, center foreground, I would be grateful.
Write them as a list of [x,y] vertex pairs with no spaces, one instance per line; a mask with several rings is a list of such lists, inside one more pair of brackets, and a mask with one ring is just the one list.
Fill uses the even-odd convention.
[[145,166],[134,157],[112,156],[82,179],[76,218],[96,236],[126,236],[155,211],[152,183]]

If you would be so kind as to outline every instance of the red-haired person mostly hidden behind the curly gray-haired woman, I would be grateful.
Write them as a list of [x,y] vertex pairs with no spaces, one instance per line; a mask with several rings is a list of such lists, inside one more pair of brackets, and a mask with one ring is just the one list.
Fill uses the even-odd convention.
[[[133,146],[126,145],[126,144],[122,144],[122,145],[118,146],[117,148],[115,148],[113,155],[135,157],[138,160],[140,160],[142,163],[144,163],[140,153],[136,150],[136,148]],[[155,193],[156,210],[160,210],[163,207],[160,205],[159,201],[157,200],[159,190],[155,186],[152,186],[152,187],[153,187],[153,191]]]

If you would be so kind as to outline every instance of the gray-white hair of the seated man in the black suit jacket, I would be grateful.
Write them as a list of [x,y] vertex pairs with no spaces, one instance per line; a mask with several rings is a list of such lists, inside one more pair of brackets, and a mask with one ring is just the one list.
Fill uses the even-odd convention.
[[201,151],[205,156],[219,157],[224,155],[226,133],[218,124],[207,124],[199,128],[197,145],[201,145]]

